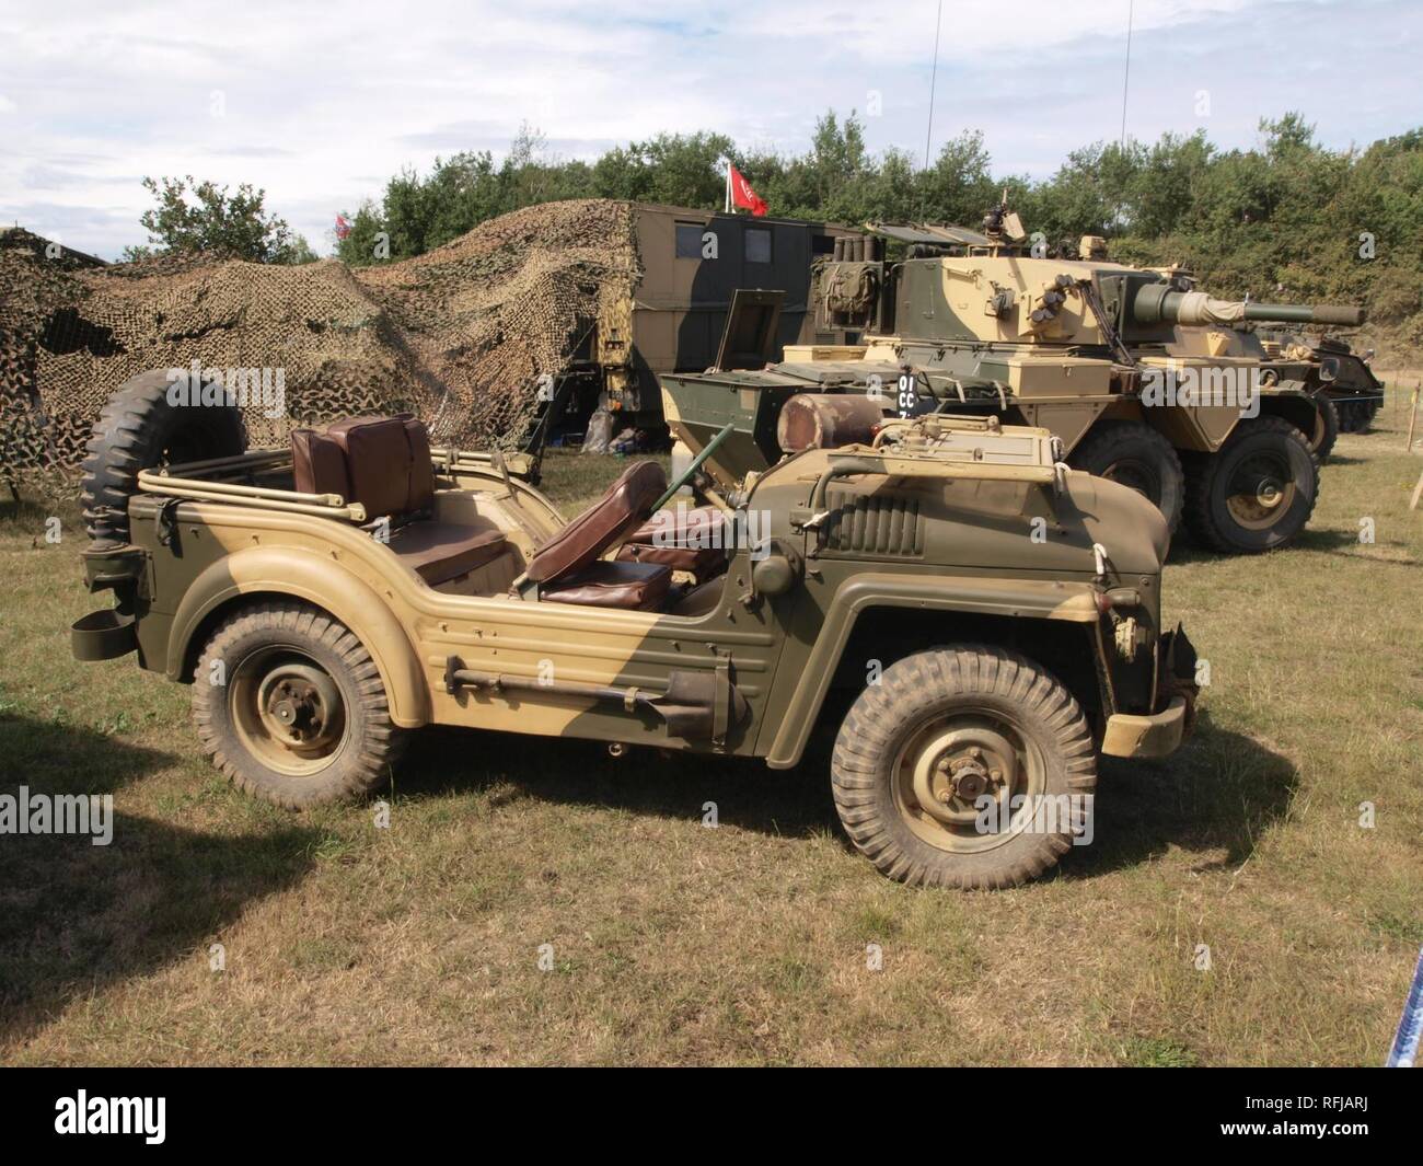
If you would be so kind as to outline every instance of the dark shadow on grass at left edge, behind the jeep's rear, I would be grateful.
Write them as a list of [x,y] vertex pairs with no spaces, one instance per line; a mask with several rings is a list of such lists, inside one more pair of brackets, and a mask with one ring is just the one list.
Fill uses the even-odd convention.
[[[0,794],[112,793],[165,753],[87,729],[0,716]],[[118,802],[118,799],[115,799]],[[317,830],[208,836],[115,804],[112,840],[0,834],[0,1044],[24,1042],[70,1004],[208,950],[249,903],[299,880]]]

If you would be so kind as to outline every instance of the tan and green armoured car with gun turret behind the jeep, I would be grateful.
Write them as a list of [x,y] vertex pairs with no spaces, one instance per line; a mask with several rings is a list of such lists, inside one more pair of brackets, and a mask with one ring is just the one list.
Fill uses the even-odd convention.
[[1333,440],[1326,372],[1251,329],[1355,326],[1362,309],[1217,299],[1184,272],[1110,262],[1100,239],[1053,258],[1006,206],[982,232],[868,231],[824,266],[818,306],[825,327],[858,329],[862,345],[663,377],[669,423],[692,448],[736,423],[714,476],[734,481],[788,451],[777,421],[790,397],[858,394],[887,417],[1043,426],[1070,466],[1137,488],[1173,530],[1184,515],[1221,551],[1282,547],[1303,528]]

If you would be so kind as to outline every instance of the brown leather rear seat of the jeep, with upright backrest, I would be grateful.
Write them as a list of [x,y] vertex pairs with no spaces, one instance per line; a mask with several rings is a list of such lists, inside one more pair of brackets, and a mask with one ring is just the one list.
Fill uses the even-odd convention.
[[351,417],[292,433],[292,474],[303,494],[340,494],[369,518],[390,518],[390,550],[430,587],[467,575],[508,550],[492,522],[441,522],[430,437],[421,421]]

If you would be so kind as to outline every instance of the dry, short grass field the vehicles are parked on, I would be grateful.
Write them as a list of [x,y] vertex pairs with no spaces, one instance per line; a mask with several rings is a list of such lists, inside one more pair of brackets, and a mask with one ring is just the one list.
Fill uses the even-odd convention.
[[[1109,765],[1094,844],[996,894],[879,877],[822,750],[773,773],[425,730],[388,829],[252,802],[185,688],[70,659],[98,605],[77,514],[55,547],[6,501],[0,792],[112,793],[117,824],[0,836],[0,1059],[1382,1063],[1423,942],[1423,457],[1379,423],[1294,548],[1177,550],[1195,737]],[[572,513],[618,468],[555,457],[549,488]]]

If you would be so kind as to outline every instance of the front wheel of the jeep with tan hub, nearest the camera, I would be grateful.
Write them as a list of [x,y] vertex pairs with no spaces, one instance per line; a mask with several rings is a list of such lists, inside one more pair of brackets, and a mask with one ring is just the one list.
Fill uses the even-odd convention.
[[1087,718],[1046,671],[986,645],[891,665],[841,725],[835,809],[911,886],[1012,887],[1067,853],[1097,784]]

